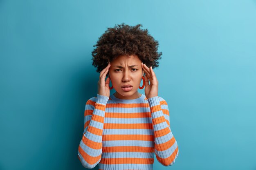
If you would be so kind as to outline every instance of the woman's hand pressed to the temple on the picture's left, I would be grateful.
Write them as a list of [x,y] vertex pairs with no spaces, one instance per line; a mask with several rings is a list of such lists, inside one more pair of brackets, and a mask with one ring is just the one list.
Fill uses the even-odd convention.
[[110,62],[108,63],[108,66],[106,66],[99,75],[99,81],[98,81],[98,94],[109,97],[110,90],[109,90],[109,83],[110,78],[108,77],[105,82],[106,75],[108,73],[108,69],[110,68]]

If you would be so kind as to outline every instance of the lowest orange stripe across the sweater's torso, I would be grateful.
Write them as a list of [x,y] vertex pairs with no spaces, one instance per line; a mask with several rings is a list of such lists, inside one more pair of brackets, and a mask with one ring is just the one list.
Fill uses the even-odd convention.
[[153,164],[154,158],[101,158],[103,164],[123,164],[123,163],[135,163],[135,164]]

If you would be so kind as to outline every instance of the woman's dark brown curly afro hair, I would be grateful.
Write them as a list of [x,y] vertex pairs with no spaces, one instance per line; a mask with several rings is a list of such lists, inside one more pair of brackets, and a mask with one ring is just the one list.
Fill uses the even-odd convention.
[[147,29],[141,29],[141,24],[129,26],[116,24],[108,28],[97,41],[92,51],[92,65],[101,72],[107,65],[120,55],[137,55],[147,66],[158,67],[162,52],[158,53],[158,41],[148,34]]

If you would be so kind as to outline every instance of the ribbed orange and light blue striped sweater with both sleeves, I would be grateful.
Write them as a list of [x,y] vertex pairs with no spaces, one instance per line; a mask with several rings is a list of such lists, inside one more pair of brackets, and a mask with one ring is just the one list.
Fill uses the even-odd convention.
[[163,166],[173,165],[179,154],[162,97],[97,94],[86,102],[77,155],[85,168],[99,164],[99,170],[152,170],[154,154]]

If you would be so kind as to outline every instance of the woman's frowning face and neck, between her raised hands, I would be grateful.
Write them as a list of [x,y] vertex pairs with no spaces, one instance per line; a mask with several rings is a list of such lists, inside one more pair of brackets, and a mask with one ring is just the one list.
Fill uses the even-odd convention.
[[[137,55],[121,55],[110,62],[109,77],[115,96],[121,99],[136,99],[139,97],[138,88],[144,71],[141,60]],[[131,87],[123,87],[125,85]]]

